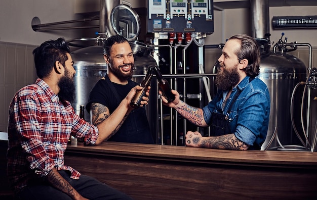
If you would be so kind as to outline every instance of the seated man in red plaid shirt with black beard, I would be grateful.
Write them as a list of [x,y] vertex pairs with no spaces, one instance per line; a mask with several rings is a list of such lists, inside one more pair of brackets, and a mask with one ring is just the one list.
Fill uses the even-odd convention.
[[[20,199],[131,199],[96,179],[64,165],[70,135],[97,145],[132,111],[134,87],[112,116],[113,123],[91,125],[75,114],[75,70],[63,38],[49,40],[33,51],[36,82],[12,99],[8,124],[8,176]],[[147,93],[149,94],[149,93]],[[147,104],[145,97],[142,104]]]

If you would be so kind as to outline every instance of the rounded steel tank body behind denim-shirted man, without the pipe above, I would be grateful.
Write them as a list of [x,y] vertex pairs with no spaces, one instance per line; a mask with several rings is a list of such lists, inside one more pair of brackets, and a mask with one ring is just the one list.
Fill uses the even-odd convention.
[[[294,134],[290,116],[291,96],[295,85],[306,80],[304,63],[293,55],[269,51],[261,55],[259,78],[266,83],[271,97],[269,127],[261,149],[267,146],[275,127],[276,134],[283,145],[297,143],[298,138]],[[296,95],[294,107],[300,108],[301,93],[296,92]],[[295,121],[300,121],[299,112],[295,113],[294,117]],[[279,146],[277,137],[269,147],[276,146]]]

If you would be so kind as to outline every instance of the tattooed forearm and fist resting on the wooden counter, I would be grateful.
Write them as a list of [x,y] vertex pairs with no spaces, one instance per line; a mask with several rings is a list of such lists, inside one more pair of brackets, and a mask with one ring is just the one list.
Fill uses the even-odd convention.
[[236,138],[233,133],[217,137],[203,137],[199,132],[188,131],[186,146],[218,148],[227,150],[247,150],[250,145]]

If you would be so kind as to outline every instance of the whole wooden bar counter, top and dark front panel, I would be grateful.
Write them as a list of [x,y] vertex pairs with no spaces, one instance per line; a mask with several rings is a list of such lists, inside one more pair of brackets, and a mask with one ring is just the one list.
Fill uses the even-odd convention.
[[134,199],[317,199],[317,153],[103,142],[65,164]]

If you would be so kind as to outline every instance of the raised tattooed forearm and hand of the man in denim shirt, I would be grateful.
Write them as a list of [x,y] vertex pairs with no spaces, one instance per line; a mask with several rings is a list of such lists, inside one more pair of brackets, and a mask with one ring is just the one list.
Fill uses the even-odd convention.
[[[160,93],[162,92],[160,91]],[[175,94],[175,100],[171,103],[168,103],[166,98],[161,95],[164,105],[174,108],[186,120],[190,121],[196,126],[201,126],[201,127],[208,126],[208,124],[205,122],[205,119],[204,119],[203,109],[189,106],[188,104],[180,101],[179,93],[176,90],[172,89],[172,93]]]

